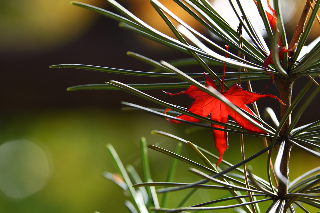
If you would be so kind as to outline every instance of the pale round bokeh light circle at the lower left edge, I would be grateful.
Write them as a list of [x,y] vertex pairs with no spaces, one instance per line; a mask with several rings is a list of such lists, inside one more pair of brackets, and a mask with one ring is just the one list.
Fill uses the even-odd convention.
[[0,146],[0,189],[7,198],[22,199],[40,191],[52,173],[49,154],[28,140]]

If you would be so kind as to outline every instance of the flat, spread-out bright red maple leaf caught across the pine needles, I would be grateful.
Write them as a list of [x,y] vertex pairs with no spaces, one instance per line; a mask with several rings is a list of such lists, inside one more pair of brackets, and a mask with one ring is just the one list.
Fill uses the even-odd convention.
[[[214,81],[205,73],[204,73],[204,79],[209,87],[213,87],[214,89],[219,91]],[[250,91],[246,91],[246,90],[243,90],[243,88],[237,83],[234,84],[230,89],[228,89],[227,92],[223,92],[223,91],[222,92],[219,91],[219,92],[225,98],[227,98],[230,102],[240,107],[241,109],[249,112],[253,116],[254,116],[253,112],[245,104],[253,103],[259,100],[260,98],[264,98],[264,97],[276,98],[280,101],[280,103],[282,103],[281,100],[274,95],[260,94],[260,93],[253,93]],[[192,113],[195,113],[203,117],[207,117],[210,114],[212,120],[219,121],[225,124],[228,123],[228,116],[230,115],[231,118],[233,118],[233,120],[236,121],[237,124],[242,126],[244,129],[248,130],[249,132],[267,134],[266,132],[259,129],[258,127],[253,126],[251,123],[245,120],[242,116],[240,116],[234,110],[232,110],[227,104],[221,102],[220,100],[207,94],[206,92],[203,92],[202,90],[200,90],[199,88],[193,85],[190,86],[186,91],[182,91],[180,93],[176,93],[176,94],[172,94],[168,92],[165,92],[165,93],[169,95],[187,94],[189,97],[196,99],[187,109]],[[170,109],[166,109],[165,113],[169,110]],[[200,121],[199,119],[192,118],[184,114],[176,116],[176,118],[180,118],[180,119],[191,121],[191,122]],[[181,121],[177,121],[169,118],[167,118],[167,120],[170,123],[175,123],[175,124],[183,123]],[[211,124],[211,126],[222,128],[222,129],[226,128],[224,126],[219,126],[216,124]],[[212,130],[212,132],[213,132],[215,146],[219,151],[219,160],[216,164],[218,165],[222,160],[222,154],[228,148],[228,132],[223,132],[220,130]]]

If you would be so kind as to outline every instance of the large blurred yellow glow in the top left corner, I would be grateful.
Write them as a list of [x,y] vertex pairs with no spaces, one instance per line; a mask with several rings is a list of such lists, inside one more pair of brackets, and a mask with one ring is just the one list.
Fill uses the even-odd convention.
[[[81,0],[103,7],[103,0]],[[82,35],[98,15],[70,0],[1,0],[0,52],[45,51]]]

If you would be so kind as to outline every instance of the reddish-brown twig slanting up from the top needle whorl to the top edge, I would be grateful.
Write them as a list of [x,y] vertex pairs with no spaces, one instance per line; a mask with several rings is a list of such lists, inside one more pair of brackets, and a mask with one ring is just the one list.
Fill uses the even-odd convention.
[[290,42],[289,48],[288,49],[293,49],[293,51],[289,52],[288,55],[290,57],[293,57],[295,49],[296,49],[296,44],[299,42],[301,34],[303,33],[305,24],[307,22],[307,18],[310,12],[310,0],[307,0],[306,5],[303,8],[299,23],[297,25],[297,27],[294,28],[294,34],[292,37],[292,40]]

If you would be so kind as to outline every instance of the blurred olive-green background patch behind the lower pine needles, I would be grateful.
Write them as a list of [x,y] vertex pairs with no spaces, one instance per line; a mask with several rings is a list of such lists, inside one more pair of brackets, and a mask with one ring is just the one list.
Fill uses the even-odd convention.
[[[140,175],[142,174],[139,151],[141,136],[146,137],[148,144],[170,151],[174,151],[177,144],[171,139],[150,134],[150,130],[160,130],[177,135],[218,154],[210,130],[185,134],[186,127],[189,126],[170,125],[163,118],[144,113],[99,108],[28,111],[9,116],[1,125],[1,141],[25,139],[42,148],[47,148],[52,159],[53,172],[44,188],[35,194],[19,199],[8,198],[3,194],[0,199],[1,209],[3,212],[17,213],[127,212],[124,207],[124,200],[127,198],[122,189],[102,177],[104,171],[116,171],[108,156],[106,144],[111,143],[124,165],[132,164]],[[260,138],[245,137],[244,141],[247,157],[264,148]],[[230,134],[229,143],[224,159],[233,164],[241,161],[239,135]],[[12,166],[19,170],[29,168],[28,162],[32,163],[32,158],[35,158],[38,153],[30,149],[25,149],[21,153],[28,152],[31,153],[28,158],[25,158],[23,164],[14,164],[12,158],[16,159],[19,156],[11,156]],[[182,156],[202,164],[193,151],[185,145],[183,145]],[[164,181],[172,159],[154,150],[149,150],[149,158],[152,179]],[[255,174],[264,178],[266,178],[266,159],[267,156],[262,155],[248,164],[252,165]],[[3,161],[3,158],[0,157],[1,160]],[[216,161],[215,159],[210,160],[212,163]],[[290,168],[290,179],[293,180],[301,173],[320,166],[320,163],[315,157],[293,148],[291,165],[294,165]],[[188,167],[188,164],[179,162],[174,181],[188,183],[198,180],[198,177],[187,171]],[[16,173],[9,175],[21,181],[39,169],[20,171],[19,177],[15,176]],[[19,180],[11,181],[19,183]],[[0,182],[2,184],[5,180],[0,178]],[[20,183],[20,186],[28,187],[28,182]],[[185,191],[172,193],[169,206],[177,205],[185,194]],[[225,197],[227,194],[228,192],[225,191],[201,189],[189,200],[188,204],[207,202]],[[233,202],[226,202],[226,204],[233,204]],[[261,208],[263,206],[266,207],[266,205],[261,205]]]

